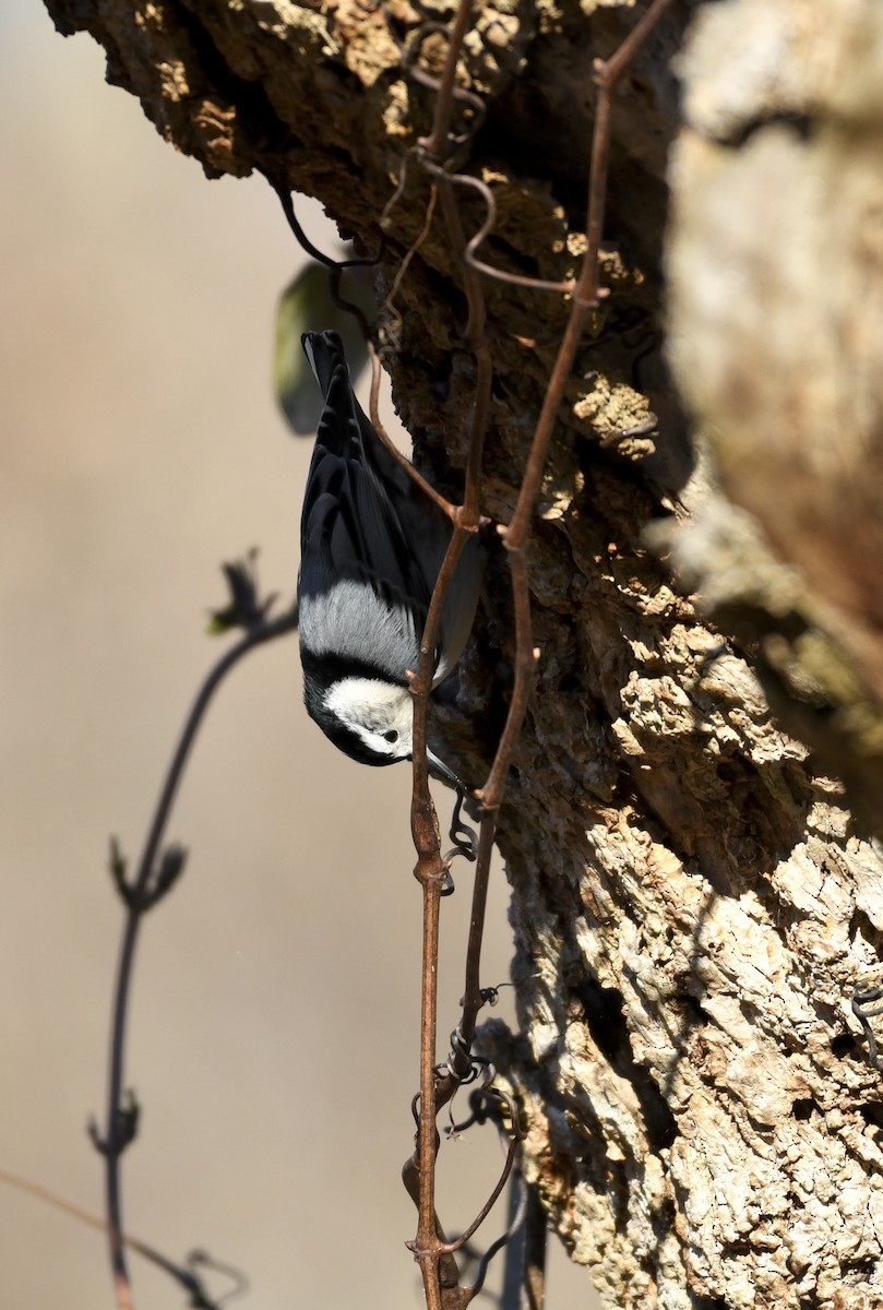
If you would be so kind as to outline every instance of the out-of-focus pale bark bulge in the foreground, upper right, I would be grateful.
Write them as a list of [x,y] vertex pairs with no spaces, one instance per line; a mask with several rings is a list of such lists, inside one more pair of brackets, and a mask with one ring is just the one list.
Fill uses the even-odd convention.
[[[879,833],[883,10],[711,8],[684,68],[672,355],[727,494],[798,569],[718,510],[686,555],[705,555],[696,576],[760,638],[777,711]],[[722,571],[723,590],[702,580]]]

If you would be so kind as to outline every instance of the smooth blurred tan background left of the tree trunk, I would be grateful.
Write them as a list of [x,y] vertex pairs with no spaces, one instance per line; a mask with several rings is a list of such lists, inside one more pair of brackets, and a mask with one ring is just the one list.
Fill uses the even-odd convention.
[[[309,441],[276,414],[270,358],[300,254],[259,179],[208,183],[37,0],[0,7],[0,1166],[100,1212],[85,1123],[103,1116],[122,922],[107,840],[136,858],[223,648],[204,633],[219,563],[258,545],[262,587],[293,591]],[[173,815],[190,861],[138,959],[127,1226],[244,1269],[262,1310],[404,1310],[421,1302],[398,1176],[418,1073],[409,774],[339,756],[300,694],[293,638],[253,654]],[[470,884],[455,872],[443,1032]],[[506,904],[500,872],[489,984],[508,977]],[[499,1161],[490,1129],[445,1145],[451,1227]],[[0,1310],[113,1303],[102,1235],[3,1183],[0,1251]],[[132,1272],[139,1310],[185,1303]],[[561,1256],[549,1296],[592,1300]]]

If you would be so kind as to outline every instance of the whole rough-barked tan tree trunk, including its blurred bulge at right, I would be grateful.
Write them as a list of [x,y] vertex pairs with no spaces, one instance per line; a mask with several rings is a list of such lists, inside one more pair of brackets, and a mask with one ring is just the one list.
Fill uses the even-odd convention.
[[[376,248],[379,215],[431,111],[431,93],[401,69],[400,42],[422,21],[406,0],[47,3],[63,30],[102,42],[110,79],[210,176],[284,178]],[[880,20],[873,0],[731,0],[700,14],[683,64],[690,128],[673,174],[673,358],[727,487],[799,575],[719,495],[685,533],[672,531],[683,512],[666,510],[676,494],[693,503],[696,482],[686,486],[693,455],[660,328],[677,128],[669,58],[688,8],[667,16],[617,100],[612,293],[570,384],[538,510],[531,578],[542,658],[500,816],[521,1035],[490,1024],[485,1044],[523,1099],[528,1174],[608,1305],[883,1305],[883,1100],[850,1009],[882,939],[882,866],[841,785],[777,727],[764,694],[836,764],[874,825],[878,738],[859,730],[879,722],[880,690]],[[489,113],[466,166],[499,204],[489,262],[571,275],[591,60],[634,18],[629,5],[591,0],[477,10],[462,77]],[[828,45],[841,22],[846,34]],[[440,38],[426,42],[427,67],[442,51]],[[409,176],[386,288],[426,210],[419,169]],[[791,185],[799,195],[782,204]],[[857,204],[863,223],[852,221]],[[469,231],[482,216],[464,200]],[[803,263],[786,258],[798,232]],[[757,278],[704,299],[745,250]],[[497,373],[483,508],[506,520],[565,307],[491,282],[486,295]],[[789,297],[793,324],[780,330]],[[396,303],[400,410],[418,456],[444,477],[462,462],[473,365],[457,347],[464,303],[440,224]],[[734,354],[714,355],[734,335]],[[778,354],[783,341],[794,350]],[[833,351],[840,389],[820,397],[832,342],[852,354]],[[841,371],[846,356],[852,371]],[[825,461],[835,424],[840,458]],[[701,580],[717,629],[660,561],[663,541],[675,542],[681,578]],[[838,660],[840,681],[816,667],[820,650]],[[499,727],[487,675],[504,684],[511,655],[499,561],[460,719],[442,724],[476,778]]]

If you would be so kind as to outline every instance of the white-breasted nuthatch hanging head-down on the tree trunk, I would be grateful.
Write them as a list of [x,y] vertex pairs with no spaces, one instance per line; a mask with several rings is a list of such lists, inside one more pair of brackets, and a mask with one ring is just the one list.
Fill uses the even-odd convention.
[[[305,333],[303,346],[325,400],[300,527],[304,701],[346,755],[394,764],[411,756],[406,675],[417,672],[451,523],[377,436],[352,392],[337,333]],[[445,593],[434,688],[466,645],[482,569],[473,537]],[[447,765],[427,756],[459,785]]]

